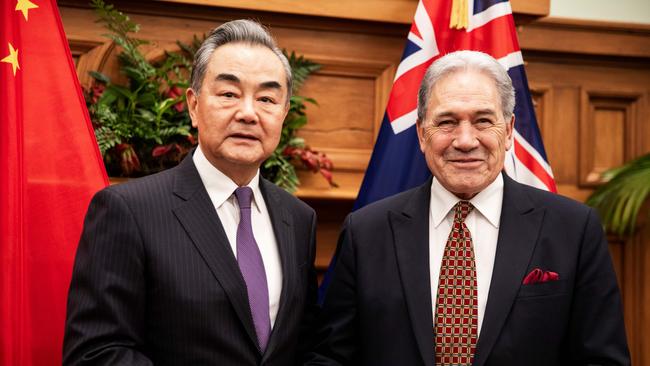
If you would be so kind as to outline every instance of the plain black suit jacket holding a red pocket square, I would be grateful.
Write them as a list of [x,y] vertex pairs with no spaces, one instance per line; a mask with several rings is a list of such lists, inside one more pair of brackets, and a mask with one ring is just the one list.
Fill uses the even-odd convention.
[[[590,208],[504,174],[474,365],[628,365],[616,277]],[[431,181],[350,214],[309,365],[433,366]],[[522,285],[540,268],[559,281]],[[435,289],[433,289],[435,291]]]

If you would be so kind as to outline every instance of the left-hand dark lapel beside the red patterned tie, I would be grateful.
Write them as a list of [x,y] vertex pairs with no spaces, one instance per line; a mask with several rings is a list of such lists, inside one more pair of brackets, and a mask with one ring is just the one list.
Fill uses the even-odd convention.
[[411,326],[426,365],[433,365],[433,315],[429,271],[431,179],[407,198],[401,211],[390,211],[393,243]]

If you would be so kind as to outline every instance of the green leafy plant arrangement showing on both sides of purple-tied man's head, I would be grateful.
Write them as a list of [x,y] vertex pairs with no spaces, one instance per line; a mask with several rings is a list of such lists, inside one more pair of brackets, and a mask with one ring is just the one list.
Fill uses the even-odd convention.
[[[191,60],[203,39],[194,36],[190,44],[177,42],[180,52],[166,52],[161,61],[151,62],[140,50],[148,42],[131,36],[139,31],[138,24],[103,0],[92,0],[91,6],[98,16],[97,22],[109,31],[105,36],[120,47],[120,71],[128,79],[127,85],[118,85],[104,74],[91,72],[94,83],[85,93],[108,174],[134,177],[178,164],[197,144],[197,131],[191,127],[185,107],[184,89],[189,85]],[[320,65],[294,52],[287,54],[287,58],[296,94]],[[300,183],[295,163],[320,172],[335,186],[332,162],[296,135],[307,123],[306,103],[316,101],[299,95],[291,98],[280,144],[261,169],[265,178],[291,192]]]

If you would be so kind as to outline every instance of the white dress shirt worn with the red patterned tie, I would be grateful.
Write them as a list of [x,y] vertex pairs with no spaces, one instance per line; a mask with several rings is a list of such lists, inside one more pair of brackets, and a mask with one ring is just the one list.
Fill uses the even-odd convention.
[[[460,198],[445,189],[436,178],[433,178],[431,206],[429,208],[429,270],[431,273],[433,319],[436,319],[440,265],[442,264],[445,245],[454,221],[452,208],[460,200]],[[472,245],[474,246],[478,286],[478,334],[480,335],[499,236],[499,221],[503,204],[503,177],[501,174],[497,176],[494,182],[469,201],[474,206],[474,209],[465,219],[465,224],[472,236]]]

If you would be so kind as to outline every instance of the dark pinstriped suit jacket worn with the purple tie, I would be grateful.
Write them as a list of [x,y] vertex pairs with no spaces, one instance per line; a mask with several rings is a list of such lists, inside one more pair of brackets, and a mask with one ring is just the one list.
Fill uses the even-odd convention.
[[260,189],[283,275],[264,354],[237,261],[188,156],[90,203],[68,297],[64,364],[295,364],[316,297],[316,215],[264,179]]

